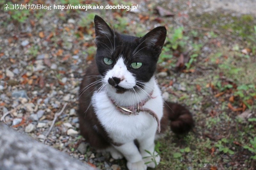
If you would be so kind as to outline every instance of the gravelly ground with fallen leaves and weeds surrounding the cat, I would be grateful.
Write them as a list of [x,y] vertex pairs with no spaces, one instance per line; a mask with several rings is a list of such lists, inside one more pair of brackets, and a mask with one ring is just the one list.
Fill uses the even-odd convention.
[[[52,9],[5,9],[22,3],[29,4],[0,0],[1,122],[92,166],[126,170],[124,159],[96,152],[79,135],[76,100],[96,50],[93,18],[136,36],[165,25],[156,76],[165,100],[191,110],[195,128],[186,136],[168,131],[156,141],[161,164],[155,169],[256,169],[255,1],[35,0]],[[68,4],[138,9],[53,9]]]

